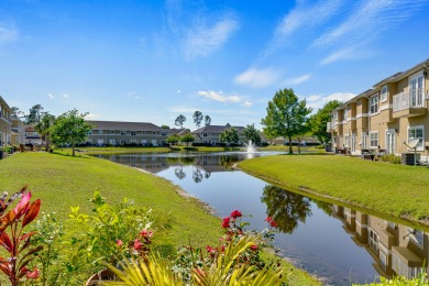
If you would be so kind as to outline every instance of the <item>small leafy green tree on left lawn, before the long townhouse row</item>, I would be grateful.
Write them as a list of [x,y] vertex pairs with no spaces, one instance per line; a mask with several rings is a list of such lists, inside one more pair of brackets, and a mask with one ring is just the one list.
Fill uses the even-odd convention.
[[85,121],[87,114],[78,114],[77,109],[74,109],[59,116],[51,132],[52,142],[55,145],[69,144],[75,156],[76,145],[85,142],[92,129],[92,125]]

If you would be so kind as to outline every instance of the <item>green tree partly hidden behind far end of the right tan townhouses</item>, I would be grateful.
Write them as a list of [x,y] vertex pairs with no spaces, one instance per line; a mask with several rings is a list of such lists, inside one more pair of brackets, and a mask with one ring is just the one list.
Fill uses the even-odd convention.
[[315,135],[323,145],[331,141],[331,133],[327,132],[327,123],[331,121],[330,113],[341,105],[341,101],[331,100],[309,119],[311,134]]

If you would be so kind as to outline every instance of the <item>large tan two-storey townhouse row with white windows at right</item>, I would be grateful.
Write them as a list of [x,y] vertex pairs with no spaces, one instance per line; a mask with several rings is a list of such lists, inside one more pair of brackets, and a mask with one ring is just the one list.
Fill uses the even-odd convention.
[[331,113],[332,146],[352,155],[382,148],[428,160],[429,59],[387,77]]

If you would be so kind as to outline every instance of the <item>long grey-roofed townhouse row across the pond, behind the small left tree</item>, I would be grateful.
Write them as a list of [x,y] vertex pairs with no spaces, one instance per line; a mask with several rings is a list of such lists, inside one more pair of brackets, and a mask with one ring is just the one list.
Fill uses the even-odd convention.
[[94,121],[87,120],[94,128],[88,133],[87,143],[94,145],[165,145],[172,134],[180,130],[162,129],[146,122]]

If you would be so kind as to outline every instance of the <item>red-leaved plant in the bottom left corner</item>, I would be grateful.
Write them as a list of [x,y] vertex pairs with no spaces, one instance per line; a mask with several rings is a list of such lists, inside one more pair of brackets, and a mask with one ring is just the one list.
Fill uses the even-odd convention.
[[[0,271],[8,275],[12,286],[15,286],[24,277],[33,279],[38,277],[37,267],[30,271],[26,266],[32,261],[32,255],[42,246],[32,248],[30,239],[36,232],[24,233],[23,229],[37,217],[41,200],[30,204],[31,191],[28,191],[28,186],[6,201],[7,196],[6,193],[0,198],[0,245],[9,252],[10,257],[0,257]],[[6,212],[9,205],[19,197],[21,200],[16,207]]]

